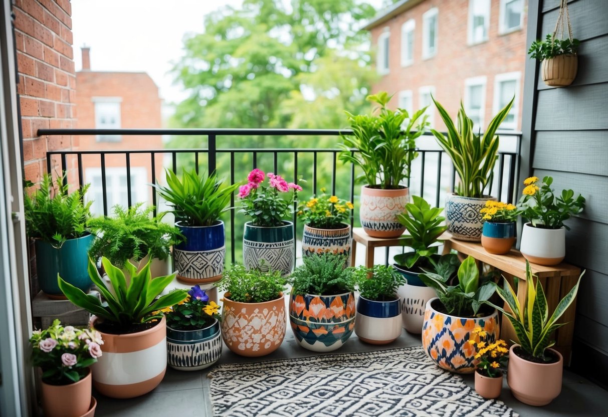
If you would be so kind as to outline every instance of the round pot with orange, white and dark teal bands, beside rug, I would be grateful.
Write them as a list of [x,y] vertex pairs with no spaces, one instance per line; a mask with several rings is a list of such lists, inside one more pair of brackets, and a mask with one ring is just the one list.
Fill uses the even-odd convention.
[[289,323],[300,346],[314,352],[340,348],[353,333],[354,293],[291,295]]

